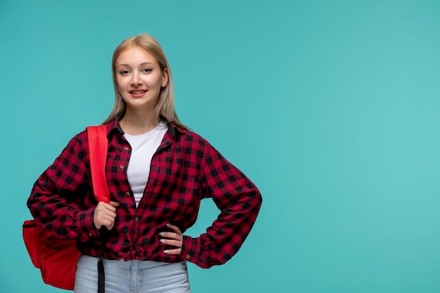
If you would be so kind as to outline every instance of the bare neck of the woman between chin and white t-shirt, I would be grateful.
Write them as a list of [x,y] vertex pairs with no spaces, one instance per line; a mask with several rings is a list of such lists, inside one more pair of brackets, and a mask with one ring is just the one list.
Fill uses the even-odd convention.
[[154,111],[134,111],[127,108],[124,117],[119,121],[122,130],[134,136],[153,130],[160,121]]

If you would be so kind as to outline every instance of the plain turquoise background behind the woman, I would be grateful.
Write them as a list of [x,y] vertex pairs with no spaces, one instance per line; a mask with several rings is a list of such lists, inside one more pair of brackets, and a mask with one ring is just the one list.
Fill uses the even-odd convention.
[[[260,188],[200,292],[440,292],[440,1],[0,0],[0,292],[44,285],[32,184],[113,103],[122,39],[153,34],[176,109]],[[204,201],[198,235],[216,217]]]

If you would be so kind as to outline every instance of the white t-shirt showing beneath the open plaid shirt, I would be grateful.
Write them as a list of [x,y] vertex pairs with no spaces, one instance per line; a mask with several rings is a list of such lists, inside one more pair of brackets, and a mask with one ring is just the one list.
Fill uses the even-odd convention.
[[124,134],[125,139],[131,145],[131,157],[129,167],[127,167],[127,177],[131,191],[133,191],[136,207],[141,201],[145,185],[150,175],[151,158],[157,148],[159,148],[165,133],[167,133],[167,123],[162,121],[155,129],[145,134],[132,136]]

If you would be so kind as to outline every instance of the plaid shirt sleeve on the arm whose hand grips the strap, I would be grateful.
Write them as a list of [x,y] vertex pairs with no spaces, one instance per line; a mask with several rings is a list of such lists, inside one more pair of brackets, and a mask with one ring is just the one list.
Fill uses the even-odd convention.
[[98,236],[94,209],[81,210],[79,203],[90,190],[79,135],[34,183],[27,200],[36,223],[60,237],[87,241]]

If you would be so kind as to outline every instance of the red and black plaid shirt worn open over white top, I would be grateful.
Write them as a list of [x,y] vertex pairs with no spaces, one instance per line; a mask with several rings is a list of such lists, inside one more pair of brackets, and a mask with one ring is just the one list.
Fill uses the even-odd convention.
[[[151,160],[150,177],[136,208],[127,178],[131,147],[118,122],[107,125],[106,176],[111,200],[119,202],[115,227],[105,242],[105,259],[187,260],[202,268],[219,265],[238,252],[250,233],[261,195],[255,185],[197,134],[169,124]],[[180,255],[168,255],[159,233],[173,223],[184,233],[197,219],[200,200],[212,197],[220,214],[200,237],[183,236]],[[93,224],[86,131],[77,134],[37,179],[27,202],[34,219],[60,237],[77,240],[79,251],[101,256]]]

